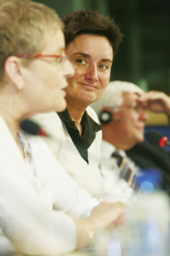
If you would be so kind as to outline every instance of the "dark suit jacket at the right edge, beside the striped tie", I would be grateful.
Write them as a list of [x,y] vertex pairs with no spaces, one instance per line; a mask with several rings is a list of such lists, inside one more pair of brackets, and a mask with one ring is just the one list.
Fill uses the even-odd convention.
[[130,150],[127,155],[141,168],[157,168],[162,172],[162,188],[170,195],[170,155],[159,145],[143,141]]

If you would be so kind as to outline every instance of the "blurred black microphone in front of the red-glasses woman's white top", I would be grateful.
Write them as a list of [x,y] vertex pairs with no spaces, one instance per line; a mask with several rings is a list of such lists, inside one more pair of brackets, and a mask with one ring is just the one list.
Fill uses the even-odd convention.
[[24,119],[21,121],[20,127],[23,131],[32,135],[48,136],[48,134],[39,126],[39,124],[29,119]]

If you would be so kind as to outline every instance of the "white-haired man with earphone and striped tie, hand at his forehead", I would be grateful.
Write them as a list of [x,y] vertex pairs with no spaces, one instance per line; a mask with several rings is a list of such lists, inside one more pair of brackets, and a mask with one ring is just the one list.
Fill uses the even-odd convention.
[[[144,92],[132,82],[111,81],[101,98],[91,106],[103,126],[101,155],[105,199],[131,203],[134,190],[139,186],[136,172],[141,166],[127,156],[126,150],[144,141],[148,119],[144,109],[170,114],[170,97],[159,91]],[[163,154],[162,148],[158,150]],[[157,167],[164,169],[164,163]]]

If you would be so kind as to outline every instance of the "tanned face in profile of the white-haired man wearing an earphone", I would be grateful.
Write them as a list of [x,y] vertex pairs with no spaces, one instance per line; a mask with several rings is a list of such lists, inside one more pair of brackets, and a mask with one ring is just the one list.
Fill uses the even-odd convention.
[[137,93],[123,93],[124,102],[118,112],[114,112],[114,119],[120,118],[120,122],[113,122],[116,127],[117,136],[121,139],[125,148],[129,149],[136,143],[144,140],[145,121],[148,115],[138,105],[139,95]]

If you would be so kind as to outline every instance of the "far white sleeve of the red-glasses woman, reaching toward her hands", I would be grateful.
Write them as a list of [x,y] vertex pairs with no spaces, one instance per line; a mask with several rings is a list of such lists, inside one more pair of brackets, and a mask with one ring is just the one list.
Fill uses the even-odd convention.
[[43,139],[36,137],[31,142],[36,174],[41,182],[50,184],[54,193],[53,207],[76,218],[87,218],[99,201],[92,197],[64,169],[50,152]]

